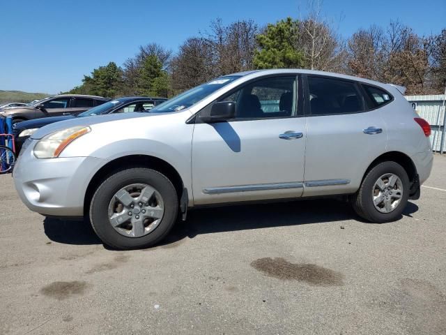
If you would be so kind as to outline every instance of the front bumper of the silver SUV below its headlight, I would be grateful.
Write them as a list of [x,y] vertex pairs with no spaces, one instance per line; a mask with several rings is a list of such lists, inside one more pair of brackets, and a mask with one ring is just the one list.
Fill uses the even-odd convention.
[[86,188],[104,160],[95,157],[38,159],[30,140],[15,164],[13,178],[20,199],[47,216],[83,216]]

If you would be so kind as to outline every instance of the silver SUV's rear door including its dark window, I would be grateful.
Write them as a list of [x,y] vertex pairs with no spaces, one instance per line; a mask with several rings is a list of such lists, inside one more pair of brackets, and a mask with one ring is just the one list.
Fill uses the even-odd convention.
[[385,152],[385,122],[379,111],[367,110],[357,82],[313,75],[304,81],[304,196],[355,192],[369,164]]

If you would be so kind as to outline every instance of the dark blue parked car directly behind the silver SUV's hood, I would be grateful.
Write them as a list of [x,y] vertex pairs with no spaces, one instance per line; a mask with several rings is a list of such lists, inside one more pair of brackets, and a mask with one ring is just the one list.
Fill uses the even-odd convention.
[[156,105],[167,101],[166,98],[150,98],[144,96],[132,96],[118,98],[113,101],[107,101],[102,105],[96,106],[81,114],[63,115],[60,117],[43,117],[29,121],[22,121],[13,125],[15,137],[15,151],[18,153],[22,149],[22,144],[38,128],[53,124],[54,122],[73,119],[75,117],[91,117],[101,114],[128,113],[128,112],[146,112]]

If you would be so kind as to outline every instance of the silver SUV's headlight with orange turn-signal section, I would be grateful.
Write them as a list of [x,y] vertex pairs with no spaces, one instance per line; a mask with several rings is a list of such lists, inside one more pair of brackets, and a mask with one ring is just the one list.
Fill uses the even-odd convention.
[[76,140],[77,137],[90,133],[90,131],[89,126],[77,126],[48,134],[37,142],[36,147],[34,147],[34,156],[37,158],[59,157],[68,144]]

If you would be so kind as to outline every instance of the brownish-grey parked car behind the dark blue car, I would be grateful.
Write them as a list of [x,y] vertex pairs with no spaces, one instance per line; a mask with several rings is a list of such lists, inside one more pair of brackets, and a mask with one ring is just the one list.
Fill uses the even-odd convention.
[[82,96],[78,94],[63,94],[45,98],[32,105],[13,107],[0,111],[2,117],[12,117],[13,124],[21,121],[39,119],[41,117],[56,117],[60,115],[79,114],[91,107],[110,101],[102,96]]

